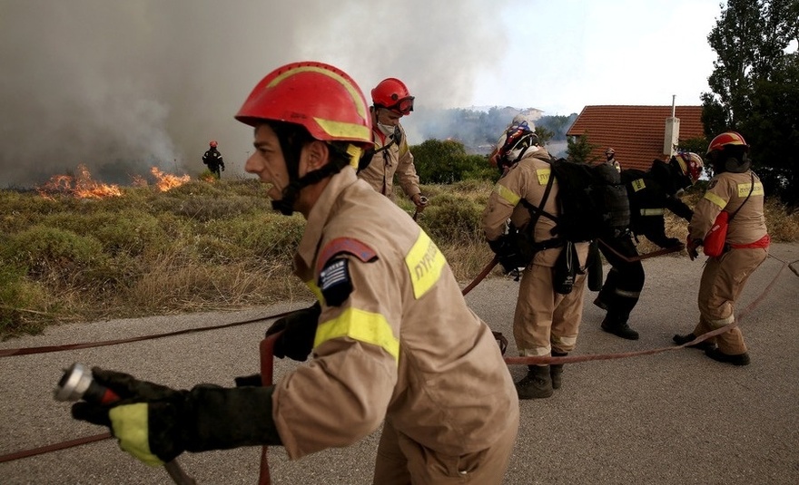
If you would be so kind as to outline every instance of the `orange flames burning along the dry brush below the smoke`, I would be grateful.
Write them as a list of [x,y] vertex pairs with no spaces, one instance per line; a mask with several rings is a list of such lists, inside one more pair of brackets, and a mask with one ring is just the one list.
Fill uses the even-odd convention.
[[[180,187],[190,181],[190,175],[178,177],[158,170],[157,167],[150,169],[150,173],[155,178],[155,187],[162,192]],[[141,176],[133,177],[133,186],[146,187],[149,185],[147,180]],[[36,188],[39,195],[45,199],[54,199],[54,195],[67,195],[76,199],[105,199],[108,197],[122,196],[122,190],[117,185],[104,184],[92,179],[92,175],[85,165],[77,167],[77,175],[54,175],[49,181]]]

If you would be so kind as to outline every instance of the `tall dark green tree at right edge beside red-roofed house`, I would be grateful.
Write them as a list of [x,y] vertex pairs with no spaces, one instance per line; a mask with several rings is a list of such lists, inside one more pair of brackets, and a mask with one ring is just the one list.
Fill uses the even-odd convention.
[[766,193],[799,204],[799,0],[728,0],[707,36],[718,59],[702,94],[708,140],[739,131]]

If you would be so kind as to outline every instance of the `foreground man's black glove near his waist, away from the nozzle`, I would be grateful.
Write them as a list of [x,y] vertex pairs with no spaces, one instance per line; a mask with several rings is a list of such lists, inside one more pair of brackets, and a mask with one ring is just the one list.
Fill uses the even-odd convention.
[[291,312],[278,318],[266,331],[266,336],[282,334],[275,340],[275,357],[289,357],[295,361],[305,361],[313,350],[316,325],[319,324],[321,305],[316,302],[308,308]]

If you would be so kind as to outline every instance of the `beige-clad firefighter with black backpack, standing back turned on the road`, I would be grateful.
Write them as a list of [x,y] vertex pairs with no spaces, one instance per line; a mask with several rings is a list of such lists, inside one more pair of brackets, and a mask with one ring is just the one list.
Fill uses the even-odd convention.
[[[516,312],[513,318],[513,336],[521,356],[565,356],[577,344],[577,331],[583,312],[583,292],[586,276],[577,273],[571,291],[556,291],[556,262],[563,251],[563,241],[555,242],[551,229],[555,222],[546,217],[533,221],[526,204],[540,207],[545,199],[550,175],[549,153],[538,144],[538,136],[528,123],[512,125],[500,138],[492,163],[498,164],[503,175],[488,197],[483,211],[482,228],[488,245],[499,257],[499,262],[510,272],[524,267],[518,288]],[[557,216],[557,184],[551,186],[543,209]],[[527,260],[519,258],[518,239],[507,230],[510,218],[512,228],[519,233],[531,229],[535,254]],[[532,224],[533,227],[528,227]],[[546,247],[547,243],[553,247]],[[587,243],[578,243],[570,249],[577,250],[580,267],[585,267]],[[569,249],[569,250],[570,250]],[[551,396],[562,383],[563,365],[529,365],[528,373],[516,383],[519,399],[538,399]]]

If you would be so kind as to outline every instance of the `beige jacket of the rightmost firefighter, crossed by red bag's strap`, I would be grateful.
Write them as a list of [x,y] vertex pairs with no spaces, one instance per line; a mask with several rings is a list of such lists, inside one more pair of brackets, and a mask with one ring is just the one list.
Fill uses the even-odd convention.
[[[753,177],[755,189],[752,190],[749,199],[744,202],[752,189]],[[688,224],[688,238],[691,240],[704,239],[722,210],[732,216],[735,210],[741,208],[727,228],[726,242],[729,244],[753,243],[763,238],[767,232],[763,203],[763,184],[755,172],[749,170],[745,173],[720,173],[710,179],[705,197],[696,202],[694,217]]]

